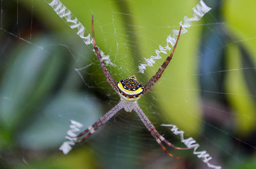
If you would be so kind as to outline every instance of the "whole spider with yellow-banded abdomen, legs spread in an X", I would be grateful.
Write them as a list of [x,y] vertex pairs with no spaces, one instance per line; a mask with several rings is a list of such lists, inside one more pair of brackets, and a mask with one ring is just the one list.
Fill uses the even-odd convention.
[[98,121],[96,121],[94,124],[92,124],[92,126],[85,129],[79,135],[74,136],[74,138],[79,138],[81,136],[84,136],[83,138],[81,138],[81,140],[78,140],[76,143],[80,143],[80,142],[83,142],[84,140],[86,140],[86,138],[91,136],[97,129],[99,129],[103,124],[105,124],[107,121],[109,121],[109,119],[111,119],[119,110],[124,108],[124,110],[126,112],[131,112],[132,110],[134,110],[136,112],[136,114],[138,114],[138,116],[140,117],[140,119],[143,122],[143,124],[145,125],[145,127],[148,129],[148,131],[150,131],[151,135],[156,139],[156,142],[159,143],[159,145],[162,147],[163,151],[166,152],[169,156],[172,156],[173,158],[179,158],[179,157],[176,157],[176,156],[173,156],[172,154],[170,154],[166,150],[166,148],[164,147],[162,142],[166,143],[166,145],[168,145],[169,147],[172,147],[173,149],[188,150],[188,149],[193,148],[193,147],[192,148],[175,147],[172,143],[168,142],[163,136],[161,136],[158,133],[158,131],[156,130],[154,125],[149,121],[148,117],[143,113],[143,111],[141,110],[140,106],[137,103],[138,99],[140,99],[141,96],[143,96],[146,92],[148,92],[154,86],[154,84],[156,84],[156,82],[159,80],[159,78],[161,78],[161,75],[163,74],[164,70],[166,69],[166,67],[168,66],[169,62],[172,59],[172,55],[175,51],[177,42],[180,37],[181,29],[182,29],[182,26],[180,26],[179,35],[177,36],[177,41],[173,47],[172,53],[170,54],[170,56],[167,57],[166,61],[163,62],[162,66],[159,68],[156,75],[154,75],[152,78],[150,78],[150,80],[148,80],[148,83],[145,85],[145,87],[143,87],[143,85],[141,85],[138,82],[137,78],[134,75],[132,75],[129,78],[120,80],[116,83],[114,78],[112,77],[111,73],[109,73],[104,62],[102,61],[102,57],[100,55],[99,48],[97,47],[97,45],[95,43],[93,15],[92,15],[92,34],[93,34],[94,52],[100,61],[100,66],[101,66],[102,71],[103,71],[104,75],[106,76],[109,84],[111,85],[111,87],[113,87],[115,92],[120,96],[120,102],[115,107],[113,107],[111,110],[109,110],[109,112],[107,112],[105,115],[100,117],[100,119]]

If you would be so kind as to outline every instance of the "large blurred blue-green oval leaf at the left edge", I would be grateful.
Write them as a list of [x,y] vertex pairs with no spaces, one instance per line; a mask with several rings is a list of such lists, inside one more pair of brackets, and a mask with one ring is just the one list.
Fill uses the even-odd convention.
[[[40,40],[41,45],[49,43]],[[13,57],[13,55],[17,57]],[[26,121],[29,109],[35,108],[56,80],[60,62],[40,48],[20,45],[10,54],[0,89],[0,116],[4,128],[15,129]]]

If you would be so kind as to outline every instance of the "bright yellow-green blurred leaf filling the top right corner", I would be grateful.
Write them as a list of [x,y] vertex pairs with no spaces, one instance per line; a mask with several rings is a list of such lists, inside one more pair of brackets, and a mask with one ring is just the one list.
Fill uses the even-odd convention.
[[223,18],[225,20],[228,31],[241,40],[243,46],[252,56],[252,60],[256,62],[256,1],[223,1]]

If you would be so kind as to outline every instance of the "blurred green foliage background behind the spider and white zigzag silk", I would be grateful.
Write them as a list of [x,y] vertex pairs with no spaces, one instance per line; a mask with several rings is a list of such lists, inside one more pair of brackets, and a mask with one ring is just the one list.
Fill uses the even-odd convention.
[[[119,101],[99,61],[51,1],[2,0],[0,168],[208,168],[193,151],[166,155],[137,115],[120,111],[69,154],[58,150],[70,119],[85,129]],[[138,66],[193,16],[197,0],[61,0],[116,66],[116,81],[141,84],[164,59]],[[175,124],[223,168],[256,168],[256,1],[205,0],[212,8],[180,36],[170,66],[139,104],[159,133],[184,147]],[[167,55],[162,54],[163,58]]]

